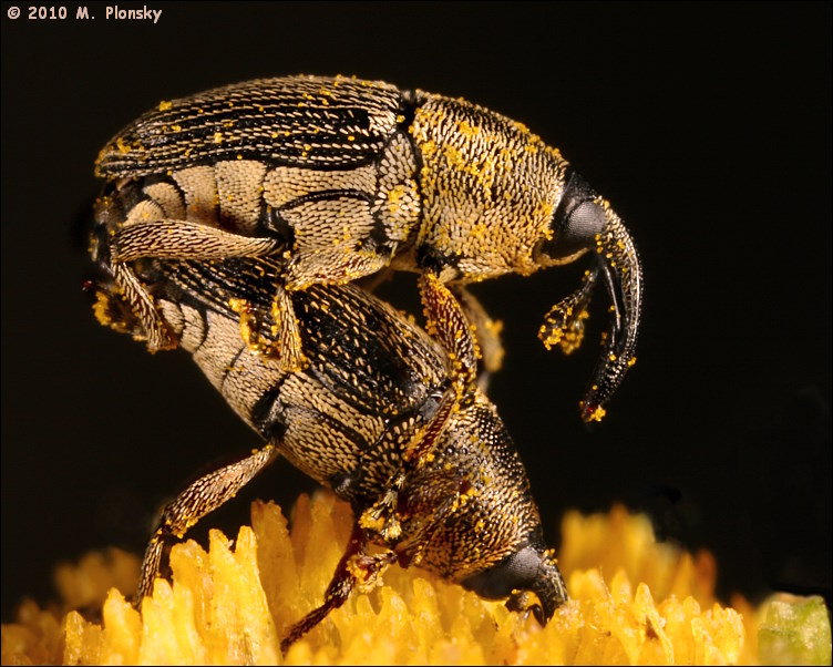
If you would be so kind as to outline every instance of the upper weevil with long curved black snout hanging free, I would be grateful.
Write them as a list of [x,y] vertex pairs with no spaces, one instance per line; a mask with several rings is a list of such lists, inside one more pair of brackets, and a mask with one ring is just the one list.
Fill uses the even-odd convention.
[[[105,145],[96,173],[109,182],[100,215],[115,280],[152,350],[173,342],[128,269],[141,257],[281,258],[271,307],[281,345],[256,345],[300,368],[287,291],[390,267],[456,284],[477,310],[465,285],[590,253],[538,337],[575,349],[600,275],[613,317],[583,419],[601,419],[636,360],[641,268],[620,218],[556,148],[463,100],[343,76],[249,81],[160,103]],[[500,342],[481,342],[496,369]]]

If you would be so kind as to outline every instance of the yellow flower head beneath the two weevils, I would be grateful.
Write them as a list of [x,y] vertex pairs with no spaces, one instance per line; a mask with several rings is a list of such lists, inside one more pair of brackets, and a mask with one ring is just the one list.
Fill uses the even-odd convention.
[[138,578],[135,557],[111,551],[62,566],[63,608],[24,602],[17,622],[2,626],[2,663],[757,664],[768,659],[757,653],[760,623],[760,642],[777,645],[778,659],[830,664],[820,598],[780,597],[755,610],[738,597],[736,608],[722,606],[709,554],[658,544],[649,521],[623,507],[565,516],[559,566],[570,599],[545,628],[500,602],[392,566],[369,595],[353,594],[281,656],[289,626],[322,602],[352,515],[321,494],[298,500],[291,531],[271,503],[254,503],[251,519],[234,543],[213,531],[207,552],[193,541],[174,546],[173,584],[157,579],[141,613],[124,597]]

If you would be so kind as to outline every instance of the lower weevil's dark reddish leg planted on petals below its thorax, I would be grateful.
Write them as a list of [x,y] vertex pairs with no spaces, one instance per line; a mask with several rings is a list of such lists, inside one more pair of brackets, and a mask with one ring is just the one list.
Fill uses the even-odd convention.
[[332,579],[327,586],[323,604],[289,628],[289,633],[280,642],[282,653],[321,623],[330,612],[343,605],[354,588],[364,593],[370,592],[379,581],[379,576],[397,561],[395,554],[390,551],[374,555],[368,554],[369,543],[368,533],[358,523],[354,524],[344,555],[341,556]]

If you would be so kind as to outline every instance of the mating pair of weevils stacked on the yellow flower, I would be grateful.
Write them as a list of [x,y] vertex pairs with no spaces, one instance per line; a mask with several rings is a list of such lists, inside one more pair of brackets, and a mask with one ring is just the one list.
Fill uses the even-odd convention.
[[[476,388],[470,321],[483,314],[464,285],[594,252],[539,336],[566,350],[580,340],[604,276],[613,326],[583,401],[584,419],[600,419],[633,363],[641,274],[618,216],[557,151],[462,101],[295,76],[163,102],[97,171],[110,181],[93,247],[106,274],[99,319],[151,350],[191,351],[269,442],[167,506],[141,594],[167,537],[282,454],[357,514],[325,604],[285,646],[394,561],[552,616],[566,591],[523,466]],[[422,274],[432,338],[343,285],[385,267]],[[500,347],[486,327],[477,336]],[[370,542],[388,551],[371,556]]]

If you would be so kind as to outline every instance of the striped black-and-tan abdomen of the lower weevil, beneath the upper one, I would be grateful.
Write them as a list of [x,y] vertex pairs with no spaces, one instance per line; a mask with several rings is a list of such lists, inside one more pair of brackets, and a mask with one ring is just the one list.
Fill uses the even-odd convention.
[[[259,270],[254,270],[257,266]],[[346,500],[374,497],[401,455],[402,440],[429,420],[448,373],[436,343],[388,305],[344,286],[295,293],[309,366],[287,372],[253,352],[229,301],[266,315],[276,268],[268,263],[156,263],[165,276],[160,309],[212,384],[263,438],[322,484],[361,468]]]

